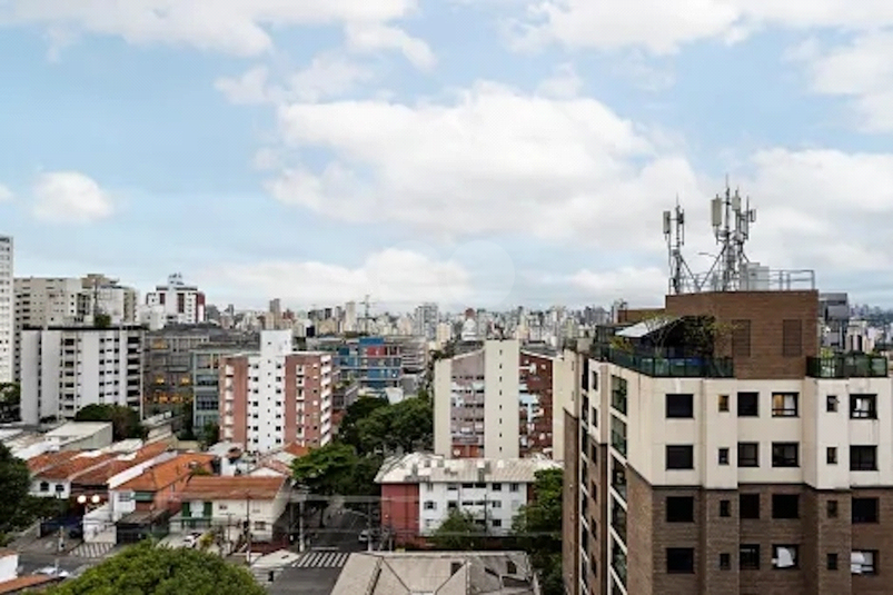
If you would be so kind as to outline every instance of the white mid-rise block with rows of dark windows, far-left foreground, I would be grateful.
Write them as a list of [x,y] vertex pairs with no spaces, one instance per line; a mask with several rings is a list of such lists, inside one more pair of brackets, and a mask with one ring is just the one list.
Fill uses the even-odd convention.
[[23,330],[22,420],[71,419],[87,405],[141,410],[141,327],[48,327]]

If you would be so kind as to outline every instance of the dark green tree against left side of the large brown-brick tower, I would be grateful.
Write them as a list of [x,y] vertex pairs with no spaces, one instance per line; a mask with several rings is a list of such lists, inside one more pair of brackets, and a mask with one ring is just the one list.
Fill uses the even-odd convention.
[[[518,510],[512,532],[539,573],[543,595],[560,595],[562,583],[562,494],[563,469],[536,472],[534,499]],[[557,582],[556,582],[557,578]],[[555,586],[557,585],[557,586]],[[549,591],[557,588],[557,591]]]

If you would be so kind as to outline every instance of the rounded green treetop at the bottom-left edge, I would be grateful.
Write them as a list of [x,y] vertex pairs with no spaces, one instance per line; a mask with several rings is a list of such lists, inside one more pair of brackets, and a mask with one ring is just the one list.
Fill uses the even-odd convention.
[[245,568],[200,549],[135,545],[49,595],[262,595]]

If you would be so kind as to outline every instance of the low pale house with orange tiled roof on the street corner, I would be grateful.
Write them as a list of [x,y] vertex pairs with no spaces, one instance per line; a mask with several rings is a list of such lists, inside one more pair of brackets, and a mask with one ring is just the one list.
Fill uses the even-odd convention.
[[288,506],[290,483],[281,476],[237,475],[189,478],[179,495],[180,514],[171,532],[215,529],[225,542],[270,542],[280,537],[277,522]]

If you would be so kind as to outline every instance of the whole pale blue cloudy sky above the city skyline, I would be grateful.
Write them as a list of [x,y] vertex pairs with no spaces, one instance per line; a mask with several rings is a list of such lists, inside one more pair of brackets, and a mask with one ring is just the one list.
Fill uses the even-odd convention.
[[656,306],[662,211],[893,306],[889,0],[0,0],[17,276]]

